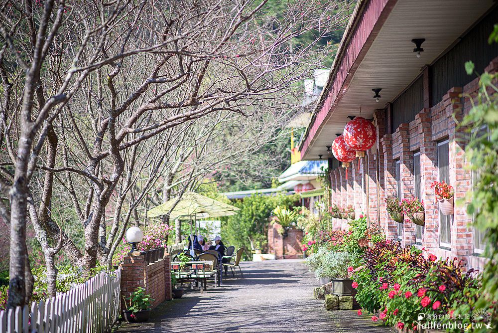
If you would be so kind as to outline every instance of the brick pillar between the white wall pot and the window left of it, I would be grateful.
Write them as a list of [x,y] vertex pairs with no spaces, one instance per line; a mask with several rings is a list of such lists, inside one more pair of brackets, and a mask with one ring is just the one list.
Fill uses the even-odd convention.
[[431,114],[424,109],[420,115],[420,190],[425,209],[422,245],[429,251],[439,248],[439,211],[434,203],[431,183],[437,180],[437,145],[432,141]]

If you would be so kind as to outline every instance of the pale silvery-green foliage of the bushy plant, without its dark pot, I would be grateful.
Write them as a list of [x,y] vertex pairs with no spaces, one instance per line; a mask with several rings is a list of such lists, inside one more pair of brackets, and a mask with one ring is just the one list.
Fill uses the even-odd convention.
[[353,260],[353,255],[348,252],[329,251],[321,247],[306,259],[306,266],[317,278],[346,278]]

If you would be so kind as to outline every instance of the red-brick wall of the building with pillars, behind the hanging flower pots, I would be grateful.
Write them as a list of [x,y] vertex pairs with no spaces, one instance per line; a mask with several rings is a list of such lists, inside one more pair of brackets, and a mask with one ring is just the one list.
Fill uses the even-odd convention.
[[[496,72],[498,57],[487,67],[486,71]],[[431,183],[438,179],[437,142],[449,140],[449,175],[450,185],[455,187],[455,199],[464,198],[472,189],[471,173],[466,168],[465,140],[462,132],[457,129],[456,121],[460,121],[466,112],[472,108],[470,98],[475,98],[479,88],[478,78],[465,87],[454,87],[443,99],[429,108],[430,87],[427,79],[428,70],[424,69],[424,109],[409,124],[401,124],[394,133],[386,134],[384,110],[374,112],[374,124],[377,129],[377,144],[367,152],[362,161],[352,165],[352,182],[346,181],[345,169],[331,171],[332,204],[339,206],[352,203],[356,211],[367,213],[370,224],[380,223],[388,239],[397,239],[397,222],[393,221],[385,210],[384,198],[396,195],[395,161],[401,162],[401,198],[414,196],[413,154],[420,152],[420,191],[425,206],[425,226],[422,244],[416,246],[428,250],[442,258],[458,257],[467,261],[470,267],[480,269],[486,262],[474,253],[473,230],[469,227],[472,217],[466,213],[466,206],[455,205],[453,221],[450,225],[451,248],[440,246],[439,242],[439,207],[435,201],[434,189]],[[470,96],[470,97],[469,97]],[[402,110],[397,110],[402,112]],[[358,165],[361,165],[358,171]],[[363,167],[362,167],[363,166]],[[378,171],[377,171],[378,166]],[[361,179],[365,185],[359,190]],[[363,198],[351,198],[361,195]],[[345,229],[347,223],[342,219],[333,219],[334,229]],[[415,244],[415,225],[409,220],[404,221],[402,236],[403,245]]]

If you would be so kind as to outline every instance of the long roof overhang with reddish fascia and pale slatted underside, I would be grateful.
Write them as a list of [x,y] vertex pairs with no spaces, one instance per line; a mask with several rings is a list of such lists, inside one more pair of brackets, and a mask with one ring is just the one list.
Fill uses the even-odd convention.
[[[303,160],[328,156],[348,116],[373,117],[394,100],[492,8],[493,0],[359,1],[338,51],[327,89],[320,96],[300,143]],[[420,58],[413,38],[425,38]],[[380,103],[373,88],[382,88]]]

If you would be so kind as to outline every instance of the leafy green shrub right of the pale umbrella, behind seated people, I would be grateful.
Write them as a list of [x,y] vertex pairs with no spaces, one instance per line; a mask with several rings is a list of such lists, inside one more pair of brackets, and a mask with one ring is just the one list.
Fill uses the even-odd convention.
[[[237,200],[234,206],[241,210],[222,223],[222,236],[225,244],[236,248],[244,246],[249,249],[263,249],[267,243],[269,218],[277,206],[291,207],[298,201],[297,195],[251,195],[244,200]],[[249,253],[245,253],[249,258]]]

